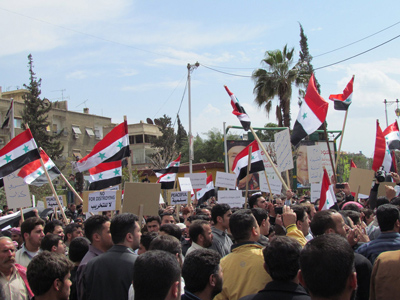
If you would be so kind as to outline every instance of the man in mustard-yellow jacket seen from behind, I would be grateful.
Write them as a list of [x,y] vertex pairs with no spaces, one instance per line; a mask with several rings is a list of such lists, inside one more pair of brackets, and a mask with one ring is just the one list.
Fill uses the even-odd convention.
[[263,268],[263,247],[257,243],[260,228],[251,210],[242,209],[232,214],[229,227],[236,244],[232,253],[221,260],[224,284],[215,300],[237,300],[257,293],[271,281]]

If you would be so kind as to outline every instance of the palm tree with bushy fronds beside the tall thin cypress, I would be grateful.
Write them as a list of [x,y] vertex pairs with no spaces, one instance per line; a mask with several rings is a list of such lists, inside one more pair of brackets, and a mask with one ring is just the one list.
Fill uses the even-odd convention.
[[280,127],[290,127],[290,99],[292,97],[292,84],[298,76],[297,65],[291,68],[293,63],[294,48],[283,51],[266,51],[262,64],[265,69],[257,69],[253,72],[255,81],[255,101],[259,107],[264,106],[267,115],[272,108],[272,100],[277,96],[279,103],[276,106],[276,118]]

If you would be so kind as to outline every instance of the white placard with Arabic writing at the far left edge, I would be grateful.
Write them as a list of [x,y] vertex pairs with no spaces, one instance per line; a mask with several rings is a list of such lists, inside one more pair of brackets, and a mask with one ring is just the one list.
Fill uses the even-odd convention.
[[21,177],[18,177],[18,172],[19,170],[3,177],[7,205],[10,209],[30,207],[32,205],[29,187]]

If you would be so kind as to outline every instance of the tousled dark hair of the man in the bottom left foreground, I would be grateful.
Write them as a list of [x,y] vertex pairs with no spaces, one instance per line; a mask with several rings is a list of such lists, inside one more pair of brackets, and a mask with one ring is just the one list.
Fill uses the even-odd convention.
[[35,296],[45,294],[54,280],[63,282],[73,267],[73,263],[63,254],[48,251],[39,253],[31,260],[26,271],[32,292]]

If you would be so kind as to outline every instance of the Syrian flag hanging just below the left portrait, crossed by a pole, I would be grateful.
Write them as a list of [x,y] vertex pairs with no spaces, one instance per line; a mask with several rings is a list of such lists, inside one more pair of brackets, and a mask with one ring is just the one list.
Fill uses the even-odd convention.
[[251,148],[251,166],[249,174],[264,171],[264,162],[257,141],[251,142],[246,148],[239,152],[232,164],[232,171],[236,174],[237,180],[241,180],[247,175],[249,162],[249,149]]

